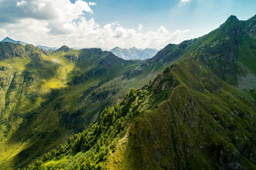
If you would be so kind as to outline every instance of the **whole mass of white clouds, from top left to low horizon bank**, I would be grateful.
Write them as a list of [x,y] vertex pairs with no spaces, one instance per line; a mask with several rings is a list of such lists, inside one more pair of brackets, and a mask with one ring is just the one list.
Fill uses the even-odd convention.
[[[1,0],[0,0],[1,1]],[[87,19],[84,13],[93,13],[90,6],[93,2],[78,0],[75,4],[69,0],[26,0],[23,9],[21,5],[11,6],[4,0],[0,6],[0,35],[9,36],[33,45],[60,47],[154,47],[161,48],[168,43],[181,42],[181,37],[189,30],[176,30],[171,33],[164,26],[157,30],[142,33],[142,24],[137,29],[128,29],[119,23],[107,23],[100,26],[93,18]],[[22,1],[19,1],[22,3]],[[2,14],[8,10],[16,10],[18,14]],[[5,8],[4,8],[4,7]],[[2,24],[1,24],[2,23]]]

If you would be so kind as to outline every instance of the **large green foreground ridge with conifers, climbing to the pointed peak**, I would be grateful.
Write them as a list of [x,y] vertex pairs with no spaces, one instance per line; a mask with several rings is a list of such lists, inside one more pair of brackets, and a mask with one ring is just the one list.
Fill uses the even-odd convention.
[[[241,24],[232,16],[196,40],[183,60],[115,106],[122,112],[108,108],[102,121],[64,151],[57,149],[28,169],[255,169],[255,103],[225,82],[236,84],[241,74],[235,68]],[[122,120],[105,120],[112,114]],[[78,149],[88,143],[89,150]]]

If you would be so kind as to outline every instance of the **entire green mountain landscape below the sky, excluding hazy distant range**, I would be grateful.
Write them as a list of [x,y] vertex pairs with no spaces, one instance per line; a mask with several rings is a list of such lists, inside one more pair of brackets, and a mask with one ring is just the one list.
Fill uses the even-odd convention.
[[0,42],[0,169],[256,169],[256,16],[148,60]]

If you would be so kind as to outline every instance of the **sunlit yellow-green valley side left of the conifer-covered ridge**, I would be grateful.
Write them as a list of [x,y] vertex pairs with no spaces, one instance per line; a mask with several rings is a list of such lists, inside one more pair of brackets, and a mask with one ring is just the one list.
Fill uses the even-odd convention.
[[[124,61],[100,49],[63,46],[48,53],[33,45],[1,45],[0,167],[4,169],[23,166],[84,130],[104,108],[164,69],[161,64]],[[166,63],[176,60],[171,57]]]

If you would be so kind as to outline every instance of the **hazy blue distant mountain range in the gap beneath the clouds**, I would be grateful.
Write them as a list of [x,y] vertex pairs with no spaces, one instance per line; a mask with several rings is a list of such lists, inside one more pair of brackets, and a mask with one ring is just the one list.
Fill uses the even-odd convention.
[[144,60],[153,57],[154,55],[156,55],[157,52],[157,50],[151,48],[139,50],[136,47],[132,47],[129,49],[114,47],[110,51],[113,52],[114,55],[117,55],[117,57],[121,57],[124,60]]

